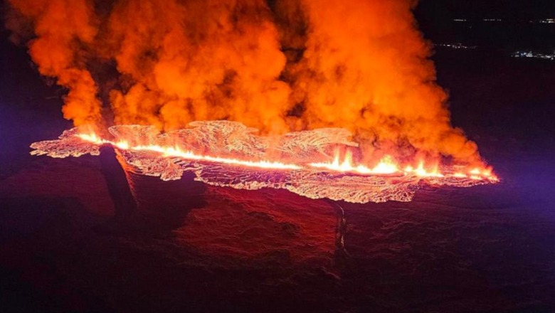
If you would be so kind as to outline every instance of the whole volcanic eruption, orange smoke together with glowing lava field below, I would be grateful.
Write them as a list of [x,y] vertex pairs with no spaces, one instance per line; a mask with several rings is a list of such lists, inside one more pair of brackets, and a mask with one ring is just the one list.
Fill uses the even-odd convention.
[[351,202],[498,181],[450,124],[413,0],[9,0],[75,128],[31,154],[115,147],[126,171]]

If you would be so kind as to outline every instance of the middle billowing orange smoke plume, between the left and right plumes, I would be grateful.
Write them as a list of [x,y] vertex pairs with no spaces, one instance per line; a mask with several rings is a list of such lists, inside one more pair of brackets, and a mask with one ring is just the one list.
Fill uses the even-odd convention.
[[229,119],[287,129],[285,55],[264,1],[121,1],[108,28],[117,68],[134,82],[112,92],[117,123],[173,129]]

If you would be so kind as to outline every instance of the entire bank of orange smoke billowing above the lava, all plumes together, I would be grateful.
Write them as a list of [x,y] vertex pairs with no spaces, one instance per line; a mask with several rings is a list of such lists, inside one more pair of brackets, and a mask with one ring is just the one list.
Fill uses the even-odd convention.
[[31,56],[68,87],[76,125],[344,127],[369,158],[480,160],[450,125],[415,1],[9,1],[7,26],[21,35],[31,23]]

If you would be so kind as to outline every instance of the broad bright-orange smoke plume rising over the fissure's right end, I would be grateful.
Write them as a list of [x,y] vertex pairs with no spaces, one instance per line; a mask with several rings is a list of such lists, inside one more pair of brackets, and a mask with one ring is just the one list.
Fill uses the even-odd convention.
[[295,102],[305,103],[301,119],[310,128],[346,127],[366,149],[410,147],[477,161],[476,144],[450,125],[414,5],[302,0],[307,40],[292,69]]

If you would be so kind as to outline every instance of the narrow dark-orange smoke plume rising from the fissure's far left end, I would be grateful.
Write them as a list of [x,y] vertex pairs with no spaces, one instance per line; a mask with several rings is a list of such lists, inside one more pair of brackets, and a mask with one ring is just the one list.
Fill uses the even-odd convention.
[[[85,66],[81,50],[92,43],[97,32],[90,1],[86,0],[9,0],[16,9],[6,26],[16,33],[31,23],[34,37],[28,42],[29,54],[42,75],[57,78],[68,88],[63,116],[75,125],[100,122],[101,105],[97,86]],[[23,24],[22,24],[23,23]]]

